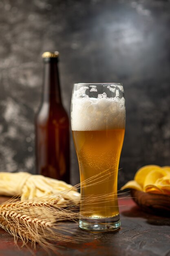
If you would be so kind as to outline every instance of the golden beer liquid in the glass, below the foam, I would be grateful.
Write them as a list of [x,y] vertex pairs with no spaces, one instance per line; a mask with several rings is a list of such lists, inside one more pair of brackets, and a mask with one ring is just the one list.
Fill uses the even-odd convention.
[[[80,168],[81,212],[89,218],[110,218],[119,214],[117,174],[124,129],[73,131]],[[104,172],[106,170],[106,173]],[[97,179],[86,180],[102,172]],[[109,176],[105,179],[105,175]],[[90,186],[89,186],[90,185]],[[83,202],[84,201],[84,202]]]

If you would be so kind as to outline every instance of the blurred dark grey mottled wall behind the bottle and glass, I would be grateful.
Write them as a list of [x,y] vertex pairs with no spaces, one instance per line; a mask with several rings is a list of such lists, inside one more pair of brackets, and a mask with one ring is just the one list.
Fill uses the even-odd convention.
[[[35,172],[34,113],[44,51],[60,52],[62,98],[75,82],[122,82],[119,186],[144,164],[170,165],[170,1],[0,0],[0,171]],[[79,181],[72,142],[72,183]]]

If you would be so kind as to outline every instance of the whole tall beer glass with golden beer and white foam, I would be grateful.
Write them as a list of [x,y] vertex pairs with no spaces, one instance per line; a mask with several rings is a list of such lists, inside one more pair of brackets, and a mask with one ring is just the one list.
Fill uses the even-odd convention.
[[125,131],[123,85],[74,84],[71,127],[81,184],[79,227],[118,229],[117,174]]

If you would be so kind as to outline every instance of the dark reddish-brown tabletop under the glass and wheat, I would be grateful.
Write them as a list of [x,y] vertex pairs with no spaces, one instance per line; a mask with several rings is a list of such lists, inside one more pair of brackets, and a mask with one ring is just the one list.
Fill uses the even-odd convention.
[[[0,202],[7,198],[0,197]],[[130,198],[119,198],[121,229],[117,232],[88,232],[87,241],[60,244],[51,255],[63,256],[170,256],[170,218],[144,213]],[[64,225],[75,233],[87,232],[77,224]],[[18,243],[22,245],[21,242]],[[46,256],[39,246],[35,255]],[[0,256],[31,256],[27,248],[18,249],[13,237],[0,228]]]

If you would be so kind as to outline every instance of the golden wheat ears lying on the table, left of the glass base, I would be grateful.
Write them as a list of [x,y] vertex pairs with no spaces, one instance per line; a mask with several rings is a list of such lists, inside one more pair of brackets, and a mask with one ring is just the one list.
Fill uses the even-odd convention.
[[[49,207],[50,206],[50,207]],[[13,210],[15,209],[15,210]],[[31,240],[32,245],[38,242],[42,247],[52,248],[51,242],[74,242],[71,231],[57,225],[58,221],[76,221],[78,213],[56,207],[51,203],[44,206],[20,205],[20,202],[8,204],[0,208],[0,226],[15,237],[15,242],[21,238],[23,245]],[[60,234],[64,231],[65,234]],[[49,242],[50,240],[50,242]]]

